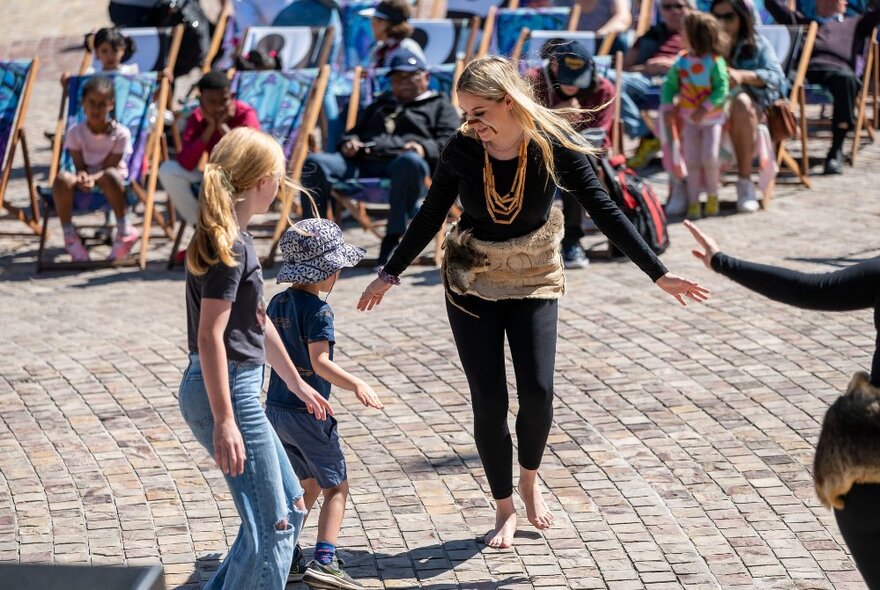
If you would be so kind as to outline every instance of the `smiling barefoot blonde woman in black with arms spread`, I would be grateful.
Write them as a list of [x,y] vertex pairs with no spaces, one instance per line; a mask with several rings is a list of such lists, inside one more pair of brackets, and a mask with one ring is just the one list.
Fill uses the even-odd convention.
[[507,428],[504,366],[507,337],[516,374],[519,493],[529,522],[549,528],[553,515],[537,485],[553,420],[558,298],[565,287],[559,252],[559,188],[574,197],[654,283],[685,304],[708,291],[670,274],[599,184],[588,160],[594,150],[568,122],[566,110],[535,101],[506,59],[470,62],[456,85],[466,122],[449,140],[431,188],[397,251],[364,290],[358,309],[382,301],[399,275],[440,229],[461,198],[461,220],[449,232],[442,268],[447,313],[474,411],[474,439],[496,502],[485,542],[509,547],[517,526],[513,450]]

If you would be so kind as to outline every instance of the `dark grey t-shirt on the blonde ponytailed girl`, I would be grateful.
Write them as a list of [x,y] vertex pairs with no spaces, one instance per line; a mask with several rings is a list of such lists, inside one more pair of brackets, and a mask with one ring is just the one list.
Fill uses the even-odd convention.
[[189,351],[199,352],[199,318],[202,299],[232,302],[229,323],[223,333],[226,357],[230,361],[265,364],[263,339],[266,306],[263,304],[263,271],[254,250],[253,237],[241,232],[233,245],[238,263],[218,263],[197,277],[186,273],[186,323]]

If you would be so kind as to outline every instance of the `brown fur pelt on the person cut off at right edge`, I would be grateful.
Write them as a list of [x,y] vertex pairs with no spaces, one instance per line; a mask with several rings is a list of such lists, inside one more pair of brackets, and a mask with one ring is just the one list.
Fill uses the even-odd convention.
[[822,503],[838,510],[853,484],[880,483],[880,388],[864,371],[825,413],[813,483]]

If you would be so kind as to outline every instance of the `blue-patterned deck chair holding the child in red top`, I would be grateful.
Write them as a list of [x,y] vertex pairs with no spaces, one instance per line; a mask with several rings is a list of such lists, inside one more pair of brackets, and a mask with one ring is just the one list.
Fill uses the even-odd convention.
[[[260,129],[277,139],[284,148],[287,174],[295,183],[299,183],[302,177],[308,138],[317,124],[329,78],[330,66],[325,64],[320,69],[289,72],[239,72],[232,83],[236,98],[256,111]],[[253,226],[254,237],[271,240],[269,252],[263,259],[267,267],[274,262],[278,241],[290,224],[296,201],[296,195],[287,187],[279,192],[278,197],[281,204],[278,220]],[[186,224],[181,221],[168,259],[169,269],[174,266],[185,231]]]

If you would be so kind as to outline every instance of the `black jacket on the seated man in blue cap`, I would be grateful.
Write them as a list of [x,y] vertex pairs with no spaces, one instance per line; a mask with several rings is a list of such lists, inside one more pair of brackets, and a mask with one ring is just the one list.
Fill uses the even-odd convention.
[[415,141],[425,148],[425,160],[433,170],[440,151],[460,123],[455,107],[442,94],[435,92],[421,100],[400,104],[386,92],[358,113],[357,123],[342,142],[359,139],[375,143],[370,148],[372,157],[394,158],[404,144]]

